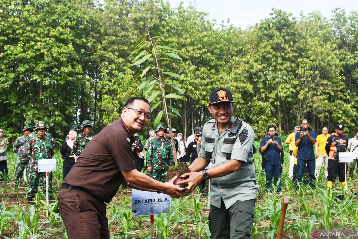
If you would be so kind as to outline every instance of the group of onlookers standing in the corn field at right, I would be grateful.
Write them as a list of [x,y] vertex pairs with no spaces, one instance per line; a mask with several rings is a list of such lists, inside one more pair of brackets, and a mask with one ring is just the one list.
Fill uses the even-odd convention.
[[[316,133],[309,129],[308,120],[303,119],[301,126],[295,126],[294,133],[290,134],[285,141],[289,144],[288,175],[295,182],[296,189],[302,184],[304,173],[309,176],[309,179],[304,182],[315,188],[316,178],[322,166],[327,179],[327,188],[332,187],[337,176],[341,185],[346,188],[348,165],[345,162],[339,162],[339,154],[347,150],[352,153],[353,158],[349,167],[349,177],[354,177],[354,168],[358,159],[358,131],[355,131],[351,139],[344,134],[342,123],[335,125],[335,131],[332,134],[328,133],[327,127],[322,127],[321,131],[322,134],[316,137]],[[283,160],[280,154],[283,151],[281,138],[276,133],[276,126],[268,126],[268,136],[262,139],[260,152],[265,161],[262,166],[266,172],[266,189],[272,191],[272,178],[274,178],[276,192],[281,193],[280,178]]]

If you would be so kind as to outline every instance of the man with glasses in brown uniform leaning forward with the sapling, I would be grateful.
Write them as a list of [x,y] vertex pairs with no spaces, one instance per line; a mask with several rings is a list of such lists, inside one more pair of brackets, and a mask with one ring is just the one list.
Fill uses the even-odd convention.
[[135,169],[133,135],[147,125],[149,114],[145,98],[128,99],[121,117],[88,143],[63,181],[58,205],[69,239],[109,239],[105,203],[112,200],[121,183],[174,198],[182,196],[185,189],[174,186],[175,178],[161,183]]

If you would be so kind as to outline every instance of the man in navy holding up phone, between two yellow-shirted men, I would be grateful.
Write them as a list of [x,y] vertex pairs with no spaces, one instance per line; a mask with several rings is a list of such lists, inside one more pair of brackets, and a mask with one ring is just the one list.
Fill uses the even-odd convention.
[[[297,176],[296,181],[298,184],[302,182],[302,174],[307,163],[308,172],[310,177],[309,185],[315,187],[316,177],[314,176],[314,150],[313,145],[316,143],[316,133],[308,130],[308,120],[303,119],[301,123],[301,131],[296,133],[295,145],[298,147],[297,152]],[[298,185],[296,184],[296,189]]]

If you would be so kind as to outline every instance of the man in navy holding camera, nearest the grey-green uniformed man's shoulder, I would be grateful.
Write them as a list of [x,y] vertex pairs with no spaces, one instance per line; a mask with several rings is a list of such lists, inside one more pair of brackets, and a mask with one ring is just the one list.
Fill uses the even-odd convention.
[[[266,189],[271,192],[272,176],[274,177],[275,185],[281,177],[281,155],[282,141],[281,138],[276,136],[276,126],[269,125],[269,135],[264,137],[261,141],[260,151],[265,156],[265,172],[266,172]],[[281,181],[277,185],[277,193],[281,193]]]

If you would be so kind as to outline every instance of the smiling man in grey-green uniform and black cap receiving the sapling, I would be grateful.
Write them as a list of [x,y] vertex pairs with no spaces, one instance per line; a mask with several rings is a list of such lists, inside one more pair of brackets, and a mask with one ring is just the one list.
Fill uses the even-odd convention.
[[[254,131],[249,124],[232,116],[235,104],[230,90],[214,89],[208,110],[212,120],[203,127],[198,158],[189,166],[188,192],[211,178],[210,232],[212,239],[251,236],[258,192],[253,163]],[[209,163],[213,167],[205,170]]]

